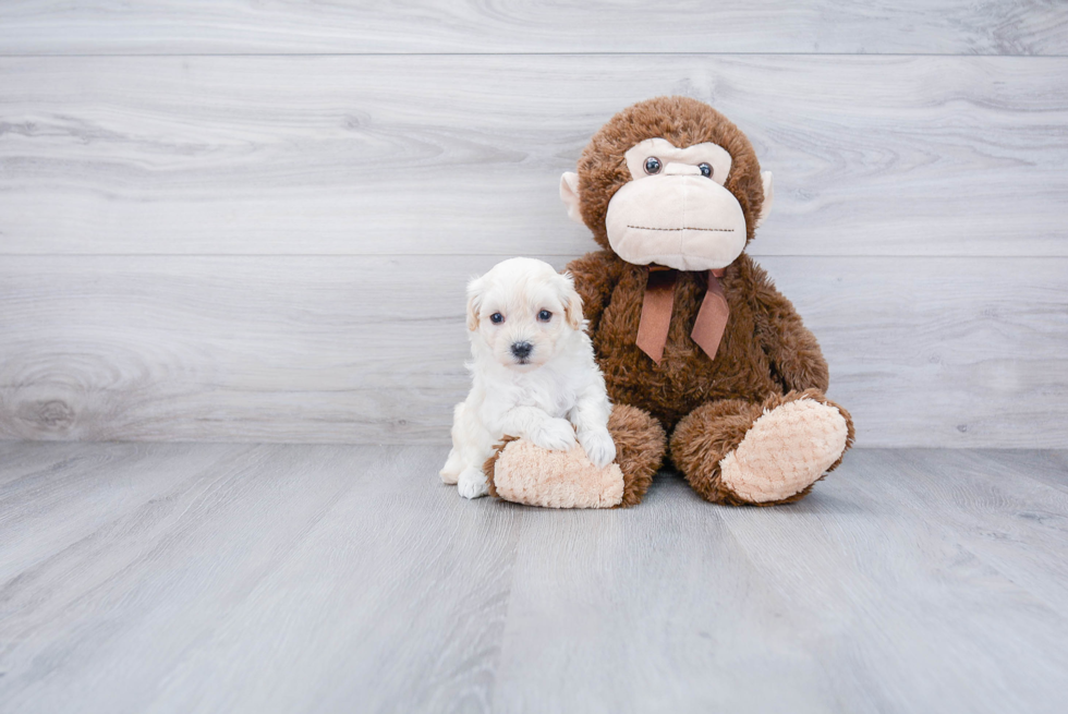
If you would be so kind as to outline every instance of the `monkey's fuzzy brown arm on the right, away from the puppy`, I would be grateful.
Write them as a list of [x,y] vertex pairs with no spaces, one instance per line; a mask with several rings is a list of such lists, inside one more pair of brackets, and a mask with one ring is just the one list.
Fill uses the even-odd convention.
[[775,289],[762,268],[753,265],[757,335],[772,370],[789,390],[818,389],[830,384],[827,361],[816,338],[801,323],[793,304]]

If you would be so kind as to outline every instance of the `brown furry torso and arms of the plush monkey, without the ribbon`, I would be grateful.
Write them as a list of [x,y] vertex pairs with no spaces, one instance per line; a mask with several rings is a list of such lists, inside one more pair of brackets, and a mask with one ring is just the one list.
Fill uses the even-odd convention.
[[582,295],[612,401],[645,409],[668,428],[709,399],[762,402],[774,392],[827,388],[827,364],[815,338],[744,253],[720,279],[730,320],[715,362],[690,339],[707,288],[705,273],[679,275],[657,365],[635,343],[645,268],[600,251],[573,261],[568,270]]

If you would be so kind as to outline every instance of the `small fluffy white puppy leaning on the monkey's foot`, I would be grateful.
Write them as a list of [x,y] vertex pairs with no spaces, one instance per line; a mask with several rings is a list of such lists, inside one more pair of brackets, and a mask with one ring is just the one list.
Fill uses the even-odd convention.
[[611,403],[583,326],[571,276],[542,261],[511,258],[468,285],[473,384],[441,469],[461,496],[488,493],[483,463],[506,435],[559,451],[578,438],[595,465],[615,460]]

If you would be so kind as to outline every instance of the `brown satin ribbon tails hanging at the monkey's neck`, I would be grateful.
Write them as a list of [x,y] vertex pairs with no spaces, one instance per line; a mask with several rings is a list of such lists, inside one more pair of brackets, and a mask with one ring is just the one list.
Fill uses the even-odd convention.
[[[708,270],[708,290],[690,332],[690,337],[705,351],[709,360],[716,359],[719,341],[727,328],[727,317],[730,315],[723,286],[717,280],[723,276],[723,269]],[[642,300],[642,319],[638,325],[638,347],[657,364],[664,358],[664,346],[667,344],[678,278],[679,271],[675,268],[660,265],[651,265],[648,268],[645,298]]]

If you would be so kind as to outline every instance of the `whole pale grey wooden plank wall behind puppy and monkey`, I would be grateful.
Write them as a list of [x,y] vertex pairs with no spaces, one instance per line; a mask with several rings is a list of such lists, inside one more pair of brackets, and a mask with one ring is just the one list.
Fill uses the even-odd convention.
[[464,280],[685,94],[861,445],[1068,446],[1068,5],[361,5],[0,4],[0,438],[447,441]]

